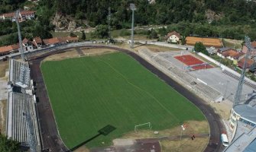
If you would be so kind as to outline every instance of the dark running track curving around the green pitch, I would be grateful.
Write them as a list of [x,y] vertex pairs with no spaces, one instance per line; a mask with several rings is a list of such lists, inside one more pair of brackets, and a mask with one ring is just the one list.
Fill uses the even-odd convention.
[[[144,65],[145,68],[157,74],[159,78],[164,80],[167,84],[177,90],[179,93],[183,94],[188,100],[194,103],[206,116],[206,119],[209,122],[210,126],[210,139],[209,144],[206,147],[206,152],[219,152],[222,151],[223,147],[220,142],[220,134],[222,131],[225,130],[224,126],[222,125],[222,120],[220,119],[219,115],[214,112],[214,110],[205,103],[202,99],[197,97],[195,94],[191,93],[186,88],[182,87],[180,84],[177,84],[176,81],[169,78],[166,74],[159,71],[153,65],[146,62],[142,59],[139,55],[135,54],[134,52],[130,52],[126,49],[119,49],[112,46],[93,46],[93,45],[86,45],[88,47],[94,48],[109,48],[109,49],[116,49],[121,52],[125,52],[128,55],[131,55],[134,59],[140,62],[141,65]],[[70,49],[70,48],[69,48]],[[74,48],[76,49],[76,48]],[[48,55],[56,54],[57,52],[63,52],[65,49],[56,50],[53,52],[47,52],[44,55],[33,57],[30,59],[30,66],[31,66],[31,78],[37,83],[37,97],[39,102],[37,103],[37,112],[38,112],[38,122],[40,125],[41,130],[41,142],[42,148],[50,148],[53,151],[67,151],[68,149],[63,144],[60,139],[60,136],[57,131],[57,125],[54,121],[53,111],[50,106],[50,101],[47,96],[47,90],[44,85],[44,80],[41,74],[40,63],[41,61],[47,57]]]

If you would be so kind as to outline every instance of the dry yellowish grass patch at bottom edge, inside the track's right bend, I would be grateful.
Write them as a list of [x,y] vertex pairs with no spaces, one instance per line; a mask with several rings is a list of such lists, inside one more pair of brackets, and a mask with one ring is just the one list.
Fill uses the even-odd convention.
[[203,151],[208,144],[209,138],[184,138],[178,141],[160,141],[162,152],[173,152],[173,151]]

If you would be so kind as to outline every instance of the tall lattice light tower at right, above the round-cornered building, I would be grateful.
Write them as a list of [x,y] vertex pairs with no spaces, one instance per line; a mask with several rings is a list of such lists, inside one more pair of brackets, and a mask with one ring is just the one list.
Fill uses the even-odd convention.
[[248,36],[245,36],[245,46],[248,48],[248,51],[245,55],[245,62],[243,65],[243,69],[241,71],[241,76],[238,83],[238,88],[235,93],[235,100],[233,103],[233,106],[238,105],[241,102],[241,91],[243,90],[243,84],[245,81],[245,70],[246,70],[246,62],[248,59],[248,56],[251,55],[251,39]]

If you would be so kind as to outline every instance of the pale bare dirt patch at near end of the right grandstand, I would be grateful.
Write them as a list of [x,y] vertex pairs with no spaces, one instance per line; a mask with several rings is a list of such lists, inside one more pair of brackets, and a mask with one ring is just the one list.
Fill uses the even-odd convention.
[[221,103],[211,103],[211,106],[213,109],[215,109],[215,112],[217,112],[220,116],[222,116],[222,119],[228,120],[230,116],[230,112],[232,109],[232,103],[224,100]]

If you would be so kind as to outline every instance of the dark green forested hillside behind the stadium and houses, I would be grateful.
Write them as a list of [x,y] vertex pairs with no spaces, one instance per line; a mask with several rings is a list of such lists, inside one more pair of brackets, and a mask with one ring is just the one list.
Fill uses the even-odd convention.
[[[28,3],[25,0],[2,0],[0,14],[23,9]],[[183,36],[193,34],[241,40],[247,34],[256,40],[256,2],[245,0],[155,0],[154,4],[148,0],[40,0],[32,8],[37,11],[37,19],[21,24],[22,36],[50,37],[56,13],[73,18],[83,28],[106,25],[109,7],[112,30],[130,28],[130,3],[137,8],[135,26],[167,25],[167,29],[157,31],[161,36],[177,30]],[[16,42],[15,24],[0,24],[0,36],[9,34],[0,39],[0,46]]]

